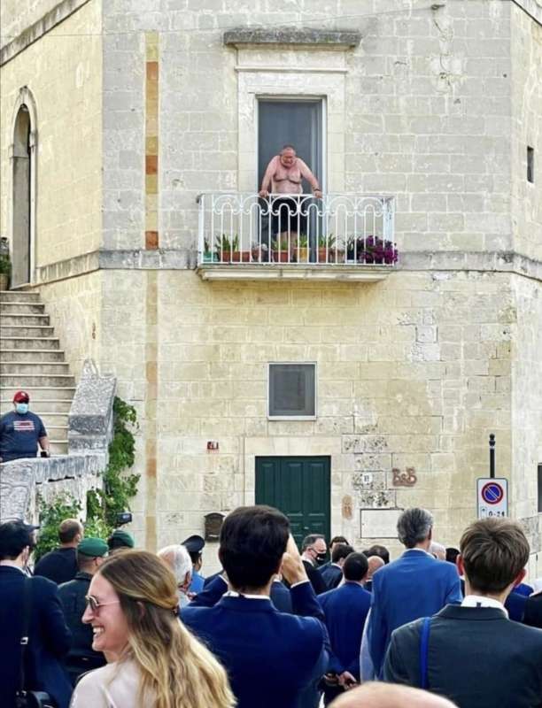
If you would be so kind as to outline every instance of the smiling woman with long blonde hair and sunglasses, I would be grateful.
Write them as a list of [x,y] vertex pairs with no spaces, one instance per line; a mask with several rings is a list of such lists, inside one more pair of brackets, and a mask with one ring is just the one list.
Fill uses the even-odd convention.
[[226,673],[177,618],[177,583],[145,550],[108,558],[82,620],[110,662],[87,673],[71,708],[231,708]]

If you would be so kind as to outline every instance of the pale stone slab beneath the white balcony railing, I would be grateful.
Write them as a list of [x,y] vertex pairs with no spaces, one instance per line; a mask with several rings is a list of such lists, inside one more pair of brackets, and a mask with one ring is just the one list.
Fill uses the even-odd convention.
[[218,264],[203,263],[197,273],[204,281],[342,281],[377,282],[383,281],[393,268],[389,266],[343,266],[314,264]]

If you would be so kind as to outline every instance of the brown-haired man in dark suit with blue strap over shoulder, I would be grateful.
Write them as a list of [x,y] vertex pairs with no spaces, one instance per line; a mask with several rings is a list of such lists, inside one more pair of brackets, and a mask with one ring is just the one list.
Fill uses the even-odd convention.
[[509,519],[480,519],[464,532],[461,607],[399,627],[384,678],[434,691],[460,708],[542,704],[542,631],[507,618],[504,601],[525,576],[529,543]]

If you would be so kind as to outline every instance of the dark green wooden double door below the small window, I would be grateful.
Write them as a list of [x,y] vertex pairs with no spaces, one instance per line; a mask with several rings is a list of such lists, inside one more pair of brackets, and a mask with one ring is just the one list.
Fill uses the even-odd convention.
[[256,458],[256,504],[286,514],[298,545],[307,534],[329,539],[329,501],[329,458]]

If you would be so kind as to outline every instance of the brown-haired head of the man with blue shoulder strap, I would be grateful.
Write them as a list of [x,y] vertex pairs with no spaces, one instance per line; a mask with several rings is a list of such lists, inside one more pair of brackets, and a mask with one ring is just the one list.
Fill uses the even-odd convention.
[[529,543],[515,521],[475,521],[461,536],[460,550],[459,571],[476,595],[507,594],[525,577]]

